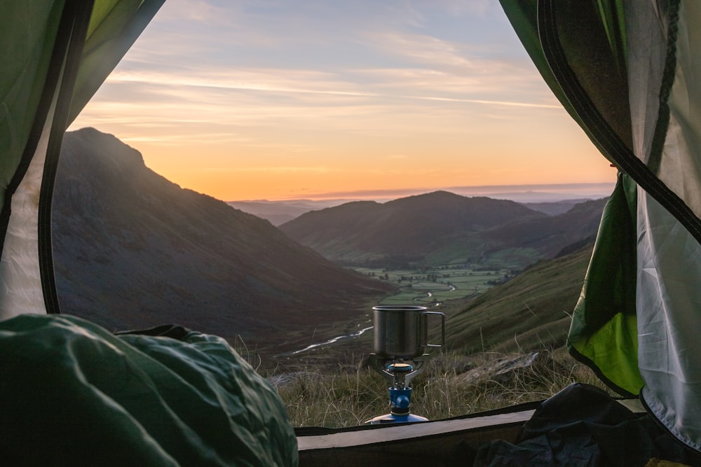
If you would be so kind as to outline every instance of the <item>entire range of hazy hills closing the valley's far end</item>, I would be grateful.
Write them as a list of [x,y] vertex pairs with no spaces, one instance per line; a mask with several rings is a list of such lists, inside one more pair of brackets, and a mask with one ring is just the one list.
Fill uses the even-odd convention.
[[312,211],[280,230],[337,263],[440,265],[501,255],[526,265],[594,235],[603,207],[595,200],[547,216],[517,202],[437,191]]

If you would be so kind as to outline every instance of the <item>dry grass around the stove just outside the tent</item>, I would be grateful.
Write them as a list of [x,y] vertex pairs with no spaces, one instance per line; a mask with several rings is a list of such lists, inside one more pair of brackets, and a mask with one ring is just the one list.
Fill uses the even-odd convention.
[[[356,426],[389,410],[388,381],[362,365],[308,367],[268,379],[285,401],[294,426]],[[441,354],[412,380],[411,412],[428,419],[483,412],[543,400],[574,382],[604,387],[562,349]]]

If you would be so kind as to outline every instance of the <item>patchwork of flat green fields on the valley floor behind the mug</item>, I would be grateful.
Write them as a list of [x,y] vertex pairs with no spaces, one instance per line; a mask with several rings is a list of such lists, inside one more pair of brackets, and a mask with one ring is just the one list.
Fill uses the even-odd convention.
[[441,265],[414,270],[386,270],[355,267],[367,276],[400,287],[399,293],[381,301],[381,305],[437,305],[444,300],[476,297],[496,284],[514,276],[515,270],[490,269],[468,265]]

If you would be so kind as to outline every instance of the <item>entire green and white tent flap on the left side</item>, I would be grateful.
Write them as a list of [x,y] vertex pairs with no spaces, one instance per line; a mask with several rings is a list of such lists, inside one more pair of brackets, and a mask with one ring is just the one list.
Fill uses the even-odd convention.
[[63,133],[161,4],[34,0],[3,7],[0,319],[59,312],[50,210]]

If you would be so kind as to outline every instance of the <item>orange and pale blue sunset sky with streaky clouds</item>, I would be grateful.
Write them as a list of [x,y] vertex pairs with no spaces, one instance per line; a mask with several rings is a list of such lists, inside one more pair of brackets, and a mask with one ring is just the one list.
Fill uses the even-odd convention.
[[225,201],[615,181],[494,0],[167,0],[88,126]]

